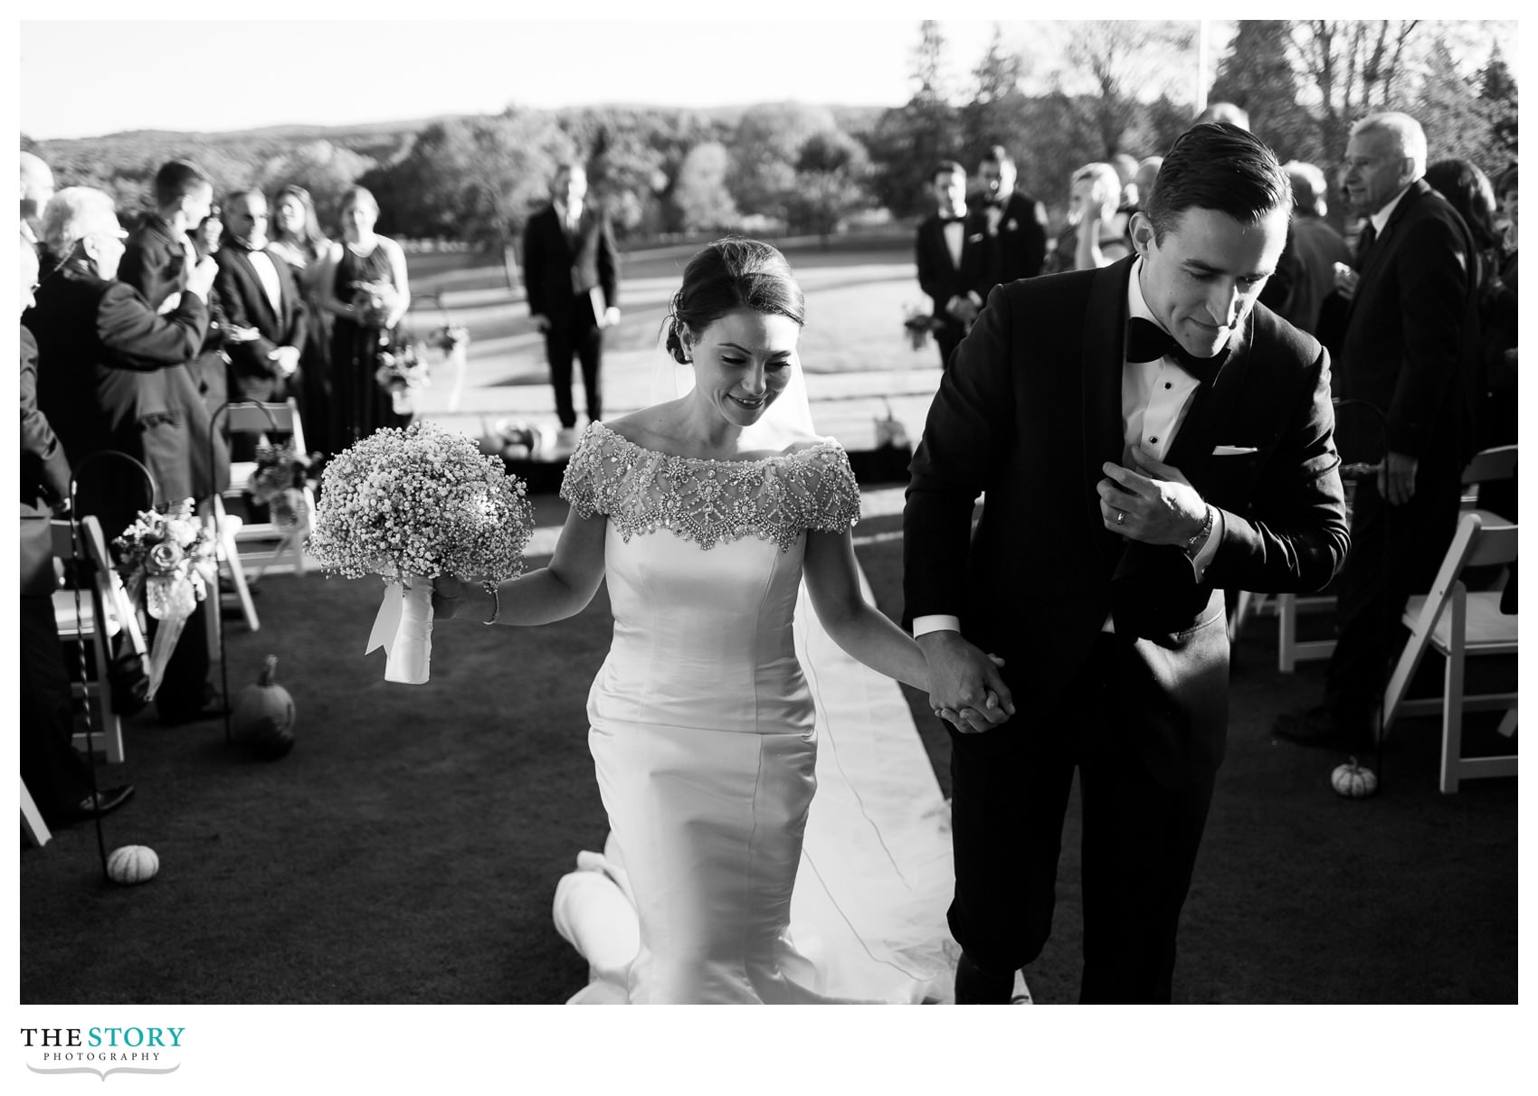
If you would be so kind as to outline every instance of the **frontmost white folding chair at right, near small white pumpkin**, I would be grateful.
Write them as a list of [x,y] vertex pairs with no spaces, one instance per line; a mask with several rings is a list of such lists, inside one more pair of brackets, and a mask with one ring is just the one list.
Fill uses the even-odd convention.
[[[1443,558],[1436,581],[1426,596],[1410,598],[1404,623],[1410,641],[1389,678],[1383,699],[1383,733],[1401,715],[1443,713],[1443,749],[1440,787],[1444,795],[1458,790],[1463,779],[1483,776],[1515,776],[1516,755],[1493,758],[1463,756],[1463,713],[1506,712],[1500,732],[1510,735],[1516,727],[1516,690],[1469,695],[1464,692],[1464,670],[1470,656],[1515,655],[1516,615],[1501,612],[1500,592],[1470,592],[1463,581],[1467,567],[1510,564],[1516,560],[1516,526],[1486,526],[1478,513],[1464,513],[1458,532]],[[1443,696],[1407,699],[1427,650],[1444,659]]]

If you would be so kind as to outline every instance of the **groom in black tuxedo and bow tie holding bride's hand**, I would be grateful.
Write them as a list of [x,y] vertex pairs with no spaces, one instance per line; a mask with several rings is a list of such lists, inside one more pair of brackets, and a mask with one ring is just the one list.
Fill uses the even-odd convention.
[[1347,549],[1329,358],[1255,307],[1289,204],[1264,144],[1192,128],[1137,255],[995,291],[940,383],[903,583],[952,724],[958,1002],[1007,1001],[1040,955],[1075,769],[1081,999],[1170,999],[1227,732],[1223,589],[1318,589]]

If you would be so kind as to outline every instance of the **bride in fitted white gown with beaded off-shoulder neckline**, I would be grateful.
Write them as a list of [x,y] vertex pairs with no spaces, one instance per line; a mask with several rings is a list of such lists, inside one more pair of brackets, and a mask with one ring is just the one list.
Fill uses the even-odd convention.
[[694,389],[588,426],[549,567],[495,595],[435,581],[440,616],[544,624],[608,580],[614,643],[588,741],[640,921],[632,1004],[829,999],[791,939],[817,755],[792,630],[803,573],[840,647],[927,689],[918,646],[861,595],[843,449],[766,429],[800,369],[801,320],[780,252],[711,244],[684,272],[667,335]]

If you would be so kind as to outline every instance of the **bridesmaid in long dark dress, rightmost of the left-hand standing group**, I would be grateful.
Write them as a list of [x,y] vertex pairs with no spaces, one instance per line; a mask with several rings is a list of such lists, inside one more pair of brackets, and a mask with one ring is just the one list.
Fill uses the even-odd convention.
[[380,355],[391,350],[395,326],[411,304],[406,254],[374,231],[380,208],[354,186],[341,198],[341,240],[317,274],[320,306],[331,330],[331,444],[340,450],[381,426],[406,426],[375,380]]

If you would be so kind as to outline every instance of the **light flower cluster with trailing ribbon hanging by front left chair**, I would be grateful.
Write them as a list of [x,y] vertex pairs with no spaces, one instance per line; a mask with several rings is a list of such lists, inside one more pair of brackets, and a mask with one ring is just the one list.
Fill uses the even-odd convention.
[[145,610],[160,621],[149,650],[149,690],[154,699],[166,673],[166,663],[197,603],[217,583],[214,540],[192,513],[192,500],[166,507],[140,510],[123,535],[112,541],[123,586],[134,601],[145,595]]

